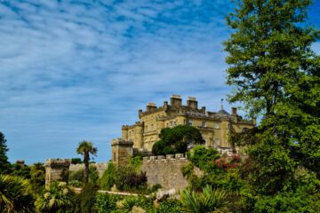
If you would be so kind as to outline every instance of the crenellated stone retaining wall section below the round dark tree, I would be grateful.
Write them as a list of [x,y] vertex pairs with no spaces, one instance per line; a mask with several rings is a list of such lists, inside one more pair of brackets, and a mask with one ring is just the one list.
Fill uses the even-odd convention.
[[183,154],[144,157],[141,170],[146,172],[148,185],[160,184],[164,190],[181,190],[188,185],[181,169],[188,164]]

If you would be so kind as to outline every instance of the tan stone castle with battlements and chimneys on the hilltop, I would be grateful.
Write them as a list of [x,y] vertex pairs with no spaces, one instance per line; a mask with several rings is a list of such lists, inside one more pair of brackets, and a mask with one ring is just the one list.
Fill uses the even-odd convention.
[[194,126],[202,133],[206,146],[228,150],[231,148],[228,142],[230,130],[241,132],[255,125],[255,120],[244,120],[239,116],[235,107],[231,114],[223,109],[222,104],[220,111],[210,112],[205,110],[205,106],[198,108],[196,98],[189,97],[187,105],[182,105],[180,95],[172,95],[170,104],[164,101],[163,106],[148,103],[145,112],[139,110],[139,119],[133,125],[122,127],[122,139],[132,141],[135,150],[145,152],[152,150],[164,128],[185,124]]

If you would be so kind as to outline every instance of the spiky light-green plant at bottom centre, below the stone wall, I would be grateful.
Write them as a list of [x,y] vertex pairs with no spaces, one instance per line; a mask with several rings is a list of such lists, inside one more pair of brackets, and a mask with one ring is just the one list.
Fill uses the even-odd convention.
[[224,190],[212,190],[212,186],[206,185],[202,193],[185,189],[180,199],[185,212],[208,213],[227,212],[227,197]]

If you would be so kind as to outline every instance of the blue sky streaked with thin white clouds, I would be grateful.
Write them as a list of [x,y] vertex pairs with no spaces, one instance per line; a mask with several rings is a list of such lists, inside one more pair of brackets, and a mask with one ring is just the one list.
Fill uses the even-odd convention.
[[[147,102],[195,96],[216,111],[225,84],[225,0],[1,1],[0,131],[9,160],[77,157],[91,140],[97,162]],[[320,28],[320,3],[309,22]],[[320,43],[313,46],[320,53]],[[227,108],[228,104],[225,105]]]

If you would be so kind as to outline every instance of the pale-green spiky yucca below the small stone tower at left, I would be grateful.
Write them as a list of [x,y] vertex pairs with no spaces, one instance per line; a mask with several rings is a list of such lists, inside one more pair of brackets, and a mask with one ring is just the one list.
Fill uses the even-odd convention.
[[70,212],[73,195],[66,184],[54,182],[36,199],[36,209],[46,213]]

